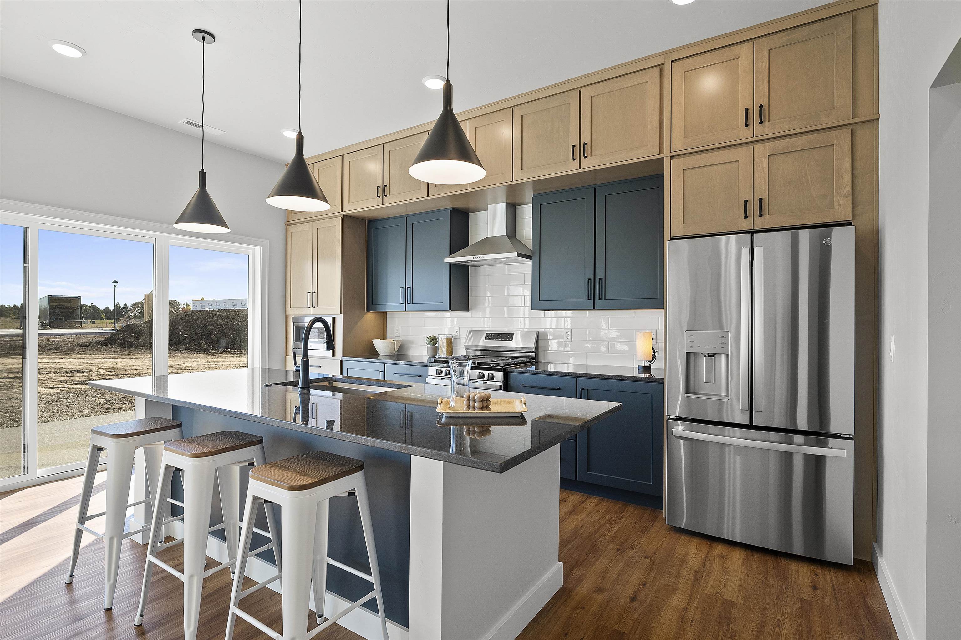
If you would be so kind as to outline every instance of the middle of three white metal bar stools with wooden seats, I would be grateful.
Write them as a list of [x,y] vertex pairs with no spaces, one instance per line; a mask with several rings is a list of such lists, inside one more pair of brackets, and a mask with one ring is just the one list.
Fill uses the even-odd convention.
[[[184,636],[186,640],[197,637],[197,624],[200,614],[200,596],[204,578],[226,567],[233,570],[237,555],[237,540],[239,537],[239,522],[237,511],[240,498],[236,493],[236,486],[230,474],[231,467],[246,466],[253,462],[262,465],[263,438],[241,431],[217,431],[206,435],[198,435],[184,440],[174,440],[163,446],[163,462],[160,465],[160,489],[157,492],[158,502],[162,504],[170,493],[170,480],[174,471],[179,470],[184,479],[184,502],[171,500],[175,505],[184,508],[184,514],[164,519],[160,509],[155,509],[151,523],[150,541],[147,549],[147,561],[143,570],[143,586],[140,590],[140,604],[136,610],[134,625],[139,627],[143,623],[143,614],[147,605],[147,593],[150,590],[150,578],[153,565],[159,566],[184,582]],[[257,468],[255,466],[255,468]],[[210,504],[213,501],[213,477],[218,478],[220,489],[220,506],[224,514],[223,524],[210,527]],[[276,522],[274,520],[273,505],[267,505],[267,528],[260,531],[270,537],[270,542],[255,551],[255,554],[274,550],[277,563],[281,564],[281,549],[278,542]],[[164,525],[183,519],[184,537],[172,542],[162,541]],[[253,527],[254,522],[244,525]],[[207,537],[210,531],[224,529],[227,543],[227,561],[215,567],[204,569],[207,555]],[[259,530],[259,529],[258,529]],[[180,572],[163,562],[157,554],[168,547],[184,544],[184,571]],[[249,538],[248,538],[249,544]]]

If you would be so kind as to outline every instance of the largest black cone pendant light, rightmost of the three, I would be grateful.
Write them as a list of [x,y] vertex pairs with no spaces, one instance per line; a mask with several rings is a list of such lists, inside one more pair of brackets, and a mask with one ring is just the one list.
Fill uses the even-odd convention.
[[454,86],[451,85],[451,0],[447,0],[447,74],[444,106],[408,173],[425,183],[466,185],[487,175],[470,140],[454,114]]

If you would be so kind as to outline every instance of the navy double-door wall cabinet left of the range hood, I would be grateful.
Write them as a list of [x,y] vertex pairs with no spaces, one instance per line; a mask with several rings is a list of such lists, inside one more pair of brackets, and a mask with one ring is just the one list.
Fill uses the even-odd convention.
[[367,310],[468,310],[469,267],[444,258],[467,246],[469,225],[459,209],[369,222]]

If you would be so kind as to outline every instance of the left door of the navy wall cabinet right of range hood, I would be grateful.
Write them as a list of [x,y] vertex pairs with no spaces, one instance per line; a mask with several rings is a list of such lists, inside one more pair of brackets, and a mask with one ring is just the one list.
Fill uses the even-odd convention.
[[533,197],[530,308],[594,308],[594,188]]

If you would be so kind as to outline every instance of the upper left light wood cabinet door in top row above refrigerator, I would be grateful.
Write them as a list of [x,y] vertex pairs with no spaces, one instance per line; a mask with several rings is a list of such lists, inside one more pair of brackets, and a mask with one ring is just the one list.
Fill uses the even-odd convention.
[[752,42],[684,58],[671,65],[674,151],[754,135]]

